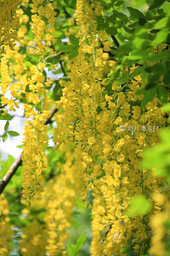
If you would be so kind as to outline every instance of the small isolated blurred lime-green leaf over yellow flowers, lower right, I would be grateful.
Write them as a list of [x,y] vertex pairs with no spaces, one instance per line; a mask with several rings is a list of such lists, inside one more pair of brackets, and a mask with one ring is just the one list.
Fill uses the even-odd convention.
[[126,212],[128,217],[131,217],[135,214],[145,215],[151,208],[150,201],[142,195],[137,195],[131,197],[129,210]]

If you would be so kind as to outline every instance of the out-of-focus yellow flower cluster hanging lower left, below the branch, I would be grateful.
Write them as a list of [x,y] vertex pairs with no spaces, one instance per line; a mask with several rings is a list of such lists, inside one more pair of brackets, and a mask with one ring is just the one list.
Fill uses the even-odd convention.
[[[39,221],[33,219],[34,221],[30,226],[22,229],[20,251],[24,256],[31,256],[35,252],[37,255],[47,253],[51,256],[56,255],[56,253],[61,255],[67,253],[64,245],[68,239],[67,230],[71,226],[75,194],[78,191],[77,176],[74,173],[75,164],[72,164],[74,161],[73,148],[74,146],[70,145],[68,141],[63,144],[63,147],[60,147],[64,161],[58,161],[54,170],[55,172],[60,171],[60,174],[48,180],[41,201],[37,202],[33,197],[30,212],[32,210],[39,211],[45,207],[44,228]],[[21,201],[25,204],[24,200]],[[27,211],[25,208],[21,213],[28,215],[29,212]]]

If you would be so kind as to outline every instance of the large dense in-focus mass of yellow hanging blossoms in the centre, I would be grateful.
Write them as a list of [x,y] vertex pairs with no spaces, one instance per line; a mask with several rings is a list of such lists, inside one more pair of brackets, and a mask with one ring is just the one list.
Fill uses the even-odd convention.
[[[158,130],[166,125],[166,113],[161,111],[162,103],[157,97],[145,108],[139,107],[144,96],[135,92],[145,83],[140,75],[132,80],[127,75],[138,68],[135,65],[130,70],[127,65],[120,70],[120,75],[127,77],[125,85],[121,86],[118,78],[112,84],[113,93],[105,92],[109,85],[104,72],[106,68],[107,73],[113,72],[116,62],[109,58],[112,44],[107,41],[106,32],[96,31],[94,21],[102,10],[100,2],[77,1],[76,7],[79,53],[73,63],[68,63],[71,81],[60,101],[63,113],[55,114],[59,126],[55,128],[54,141],[63,142],[66,129],[62,126],[67,127],[67,135],[77,145],[75,159],[81,198],[88,207],[92,204],[91,195],[94,197],[91,255],[125,255],[123,251],[129,242],[134,252],[142,255],[152,236],[150,217],[157,213],[152,207],[145,217],[128,217],[129,198],[141,194],[150,197],[157,190],[165,194],[162,187],[166,181],[144,169],[142,157],[146,147],[159,141]],[[164,47],[159,45],[154,53]],[[67,57],[65,60],[68,61]],[[73,125],[72,135],[71,127],[66,125],[66,112]]]

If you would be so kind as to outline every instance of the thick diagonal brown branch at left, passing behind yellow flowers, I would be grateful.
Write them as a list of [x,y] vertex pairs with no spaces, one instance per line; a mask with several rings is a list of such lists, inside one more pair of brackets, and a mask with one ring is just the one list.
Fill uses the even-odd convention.
[[[51,118],[54,116],[54,114],[57,112],[57,108],[55,105],[50,109],[50,116],[45,120],[45,124],[49,124],[51,122]],[[11,180],[12,176],[15,174],[17,171],[18,167],[22,165],[22,160],[21,160],[22,153],[18,158],[13,162],[11,165],[10,169],[6,172],[4,177],[2,178],[0,182],[0,195],[3,192],[4,188],[8,184],[8,182]]]

